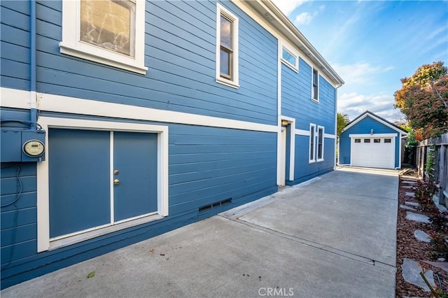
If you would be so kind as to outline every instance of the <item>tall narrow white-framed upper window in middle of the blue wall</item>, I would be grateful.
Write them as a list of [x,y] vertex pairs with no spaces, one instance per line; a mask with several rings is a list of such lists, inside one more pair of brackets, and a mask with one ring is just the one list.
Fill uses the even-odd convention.
[[216,4],[216,81],[239,87],[238,18]]

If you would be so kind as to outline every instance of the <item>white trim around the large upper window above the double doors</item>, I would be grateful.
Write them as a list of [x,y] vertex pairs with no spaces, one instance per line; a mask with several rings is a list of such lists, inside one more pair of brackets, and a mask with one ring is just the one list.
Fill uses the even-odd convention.
[[135,1],[135,57],[80,41],[80,1],[62,2],[62,54],[71,55],[127,71],[146,74],[145,66],[145,2]]

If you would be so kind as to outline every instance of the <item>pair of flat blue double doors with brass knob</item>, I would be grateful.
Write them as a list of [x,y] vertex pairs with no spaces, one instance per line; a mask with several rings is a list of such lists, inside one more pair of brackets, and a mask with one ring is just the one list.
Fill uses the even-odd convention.
[[158,211],[155,133],[50,129],[48,168],[50,238]]

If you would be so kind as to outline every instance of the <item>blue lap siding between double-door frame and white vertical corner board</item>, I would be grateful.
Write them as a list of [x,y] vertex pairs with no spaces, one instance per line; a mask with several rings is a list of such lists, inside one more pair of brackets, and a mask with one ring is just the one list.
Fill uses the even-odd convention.
[[170,213],[238,199],[275,185],[276,134],[170,127]]

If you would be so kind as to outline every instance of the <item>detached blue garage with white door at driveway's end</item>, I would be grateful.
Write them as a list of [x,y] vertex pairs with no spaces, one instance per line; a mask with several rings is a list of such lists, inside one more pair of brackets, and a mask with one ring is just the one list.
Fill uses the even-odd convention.
[[404,129],[365,111],[339,136],[339,164],[399,169],[401,139],[406,136]]

